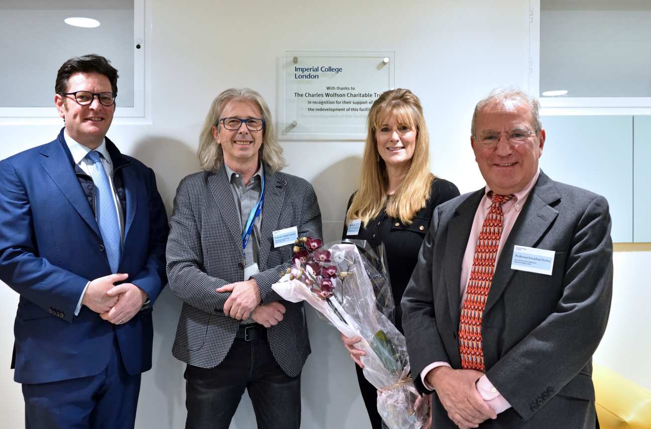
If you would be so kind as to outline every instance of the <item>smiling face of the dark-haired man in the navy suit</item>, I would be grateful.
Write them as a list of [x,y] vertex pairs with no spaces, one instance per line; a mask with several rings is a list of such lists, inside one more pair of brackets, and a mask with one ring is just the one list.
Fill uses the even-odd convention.
[[[76,73],[70,76],[66,92],[81,90],[94,94],[113,92],[109,78],[98,73]],[[74,95],[61,94],[54,96],[54,102],[70,137],[91,149],[102,144],[102,139],[113,122],[115,104],[105,106],[100,104],[98,97],[93,97],[92,103],[81,105],[75,101]]]

